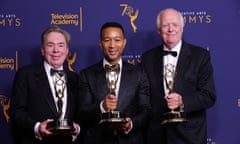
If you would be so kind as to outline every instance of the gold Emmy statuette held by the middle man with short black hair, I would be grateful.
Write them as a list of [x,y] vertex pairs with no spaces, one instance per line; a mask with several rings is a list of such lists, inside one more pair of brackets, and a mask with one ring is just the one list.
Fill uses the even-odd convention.
[[[116,96],[116,84],[119,75],[119,65],[106,66],[106,77],[108,82],[109,93]],[[101,123],[126,123],[126,116],[124,113],[117,110],[110,110],[101,113]]]

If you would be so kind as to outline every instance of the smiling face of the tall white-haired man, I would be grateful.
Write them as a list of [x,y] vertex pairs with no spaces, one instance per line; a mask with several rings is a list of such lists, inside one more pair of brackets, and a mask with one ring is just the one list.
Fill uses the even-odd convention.
[[168,9],[163,11],[158,18],[158,32],[164,44],[168,48],[175,47],[182,39],[183,20],[181,15],[173,9]]

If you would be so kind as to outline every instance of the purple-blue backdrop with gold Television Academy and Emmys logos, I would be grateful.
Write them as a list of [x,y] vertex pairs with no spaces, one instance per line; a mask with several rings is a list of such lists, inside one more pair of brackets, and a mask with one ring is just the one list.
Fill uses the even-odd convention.
[[167,7],[182,12],[184,39],[211,52],[218,99],[207,111],[208,144],[239,144],[239,0],[1,0],[0,143],[12,143],[8,109],[13,77],[19,67],[41,60],[40,35],[45,28],[57,24],[71,33],[66,65],[79,72],[102,58],[101,25],[120,22],[128,42],[123,58],[136,64],[144,51],[161,43],[156,15]]

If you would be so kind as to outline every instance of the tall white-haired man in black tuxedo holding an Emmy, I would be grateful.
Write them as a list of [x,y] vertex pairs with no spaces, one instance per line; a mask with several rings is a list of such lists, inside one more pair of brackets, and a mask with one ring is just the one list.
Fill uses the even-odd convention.
[[[142,55],[142,66],[150,81],[153,111],[148,144],[207,143],[206,109],[216,101],[210,53],[183,41],[183,26],[180,12],[172,8],[161,11],[157,16],[157,31],[163,44]],[[174,76],[167,85],[171,75],[169,67],[173,68]],[[170,86],[173,89],[169,89]],[[184,111],[181,118],[187,121],[175,119],[165,123],[164,114],[178,109]]]

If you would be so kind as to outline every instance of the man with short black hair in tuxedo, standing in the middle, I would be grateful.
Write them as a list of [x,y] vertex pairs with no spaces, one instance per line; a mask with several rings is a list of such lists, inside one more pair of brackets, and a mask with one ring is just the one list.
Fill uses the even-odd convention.
[[[79,115],[87,126],[84,144],[143,144],[144,129],[150,118],[147,77],[141,67],[122,60],[126,38],[119,23],[102,25],[99,45],[104,58],[79,74]],[[108,88],[107,64],[120,66],[114,93]],[[101,114],[111,110],[125,114],[126,122],[113,119],[101,123]]]

